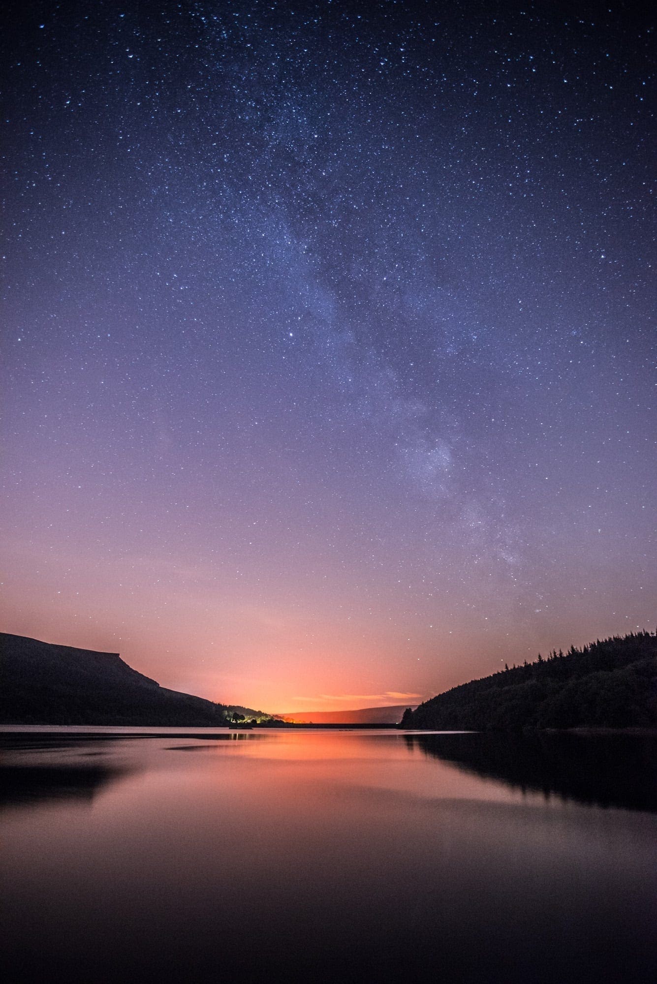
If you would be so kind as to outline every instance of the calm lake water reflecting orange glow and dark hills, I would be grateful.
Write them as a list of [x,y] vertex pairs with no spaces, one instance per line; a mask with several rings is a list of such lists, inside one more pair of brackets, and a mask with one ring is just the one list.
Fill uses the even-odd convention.
[[655,740],[0,736],[3,980],[657,980]]

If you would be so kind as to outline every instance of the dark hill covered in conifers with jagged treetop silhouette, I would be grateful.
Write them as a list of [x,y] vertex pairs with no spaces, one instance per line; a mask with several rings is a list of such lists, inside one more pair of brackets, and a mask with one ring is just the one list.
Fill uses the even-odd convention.
[[650,727],[657,725],[657,638],[598,640],[505,667],[406,710],[404,728]]

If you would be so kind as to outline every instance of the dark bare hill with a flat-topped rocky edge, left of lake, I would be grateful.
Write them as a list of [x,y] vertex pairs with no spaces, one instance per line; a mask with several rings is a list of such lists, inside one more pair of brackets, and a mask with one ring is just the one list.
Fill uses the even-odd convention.
[[0,634],[0,723],[220,726],[226,710],[160,687],[116,652]]

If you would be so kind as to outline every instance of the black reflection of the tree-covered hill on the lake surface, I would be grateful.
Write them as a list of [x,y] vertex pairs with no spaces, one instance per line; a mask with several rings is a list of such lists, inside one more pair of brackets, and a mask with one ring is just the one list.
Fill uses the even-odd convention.
[[578,803],[657,812],[657,738],[650,735],[405,735],[409,749],[471,773]]

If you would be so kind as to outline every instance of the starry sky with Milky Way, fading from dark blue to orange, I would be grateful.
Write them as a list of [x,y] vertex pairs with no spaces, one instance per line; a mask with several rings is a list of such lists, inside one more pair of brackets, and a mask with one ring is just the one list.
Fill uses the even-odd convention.
[[654,628],[635,7],[28,2],[3,47],[3,629],[292,711]]

